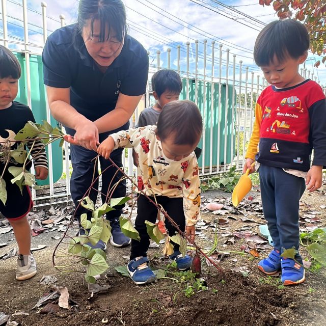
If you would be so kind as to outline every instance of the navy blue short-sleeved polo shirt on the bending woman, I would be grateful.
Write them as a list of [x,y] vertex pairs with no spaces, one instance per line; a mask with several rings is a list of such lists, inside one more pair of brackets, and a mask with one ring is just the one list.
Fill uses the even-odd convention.
[[[119,93],[138,96],[146,92],[148,55],[137,40],[127,35],[120,55],[102,73],[89,55],[80,33],[73,46],[76,24],[53,32],[43,53],[44,84],[70,88],[70,104],[91,121],[114,110]],[[129,123],[119,130],[128,129]]]

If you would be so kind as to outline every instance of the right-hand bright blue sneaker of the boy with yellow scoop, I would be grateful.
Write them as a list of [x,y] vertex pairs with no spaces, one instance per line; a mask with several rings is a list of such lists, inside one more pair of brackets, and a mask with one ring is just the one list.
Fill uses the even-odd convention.
[[300,284],[306,280],[305,268],[298,264],[294,259],[282,258],[281,266],[281,281],[284,285]]

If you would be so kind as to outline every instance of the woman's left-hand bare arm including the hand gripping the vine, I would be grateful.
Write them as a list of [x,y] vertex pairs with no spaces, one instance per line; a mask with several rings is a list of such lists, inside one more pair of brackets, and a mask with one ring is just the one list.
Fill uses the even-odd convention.
[[52,116],[63,125],[76,130],[74,138],[69,137],[71,143],[96,151],[99,144],[98,129],[94,122],[70,105],[70,89],[46,86],[46,93]]

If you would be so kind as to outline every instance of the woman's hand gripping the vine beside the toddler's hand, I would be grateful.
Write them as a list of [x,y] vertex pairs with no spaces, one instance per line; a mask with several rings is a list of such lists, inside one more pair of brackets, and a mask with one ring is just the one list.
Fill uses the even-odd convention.
[[71,135],[66,135],[64,139],[70,144],[83,146],[95,152],[99,145],[98,129],[94,122],[87,119],[76,126],[76,133],[73,137]]

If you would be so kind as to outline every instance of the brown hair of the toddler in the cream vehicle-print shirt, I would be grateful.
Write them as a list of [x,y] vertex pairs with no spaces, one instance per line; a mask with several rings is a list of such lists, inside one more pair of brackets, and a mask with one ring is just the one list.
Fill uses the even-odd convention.
[[188,100],[164,105],[158,116],[156,134],[161,141],[175,134],[176,145],[193,145],[203,131],[203,119],[198,106]]

